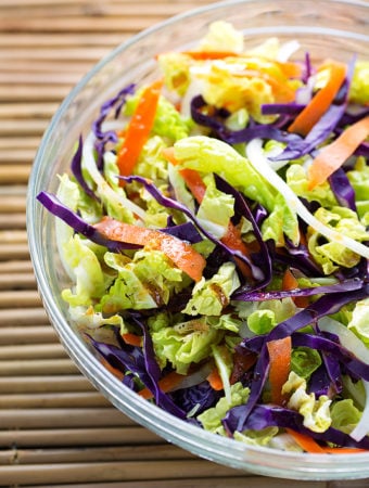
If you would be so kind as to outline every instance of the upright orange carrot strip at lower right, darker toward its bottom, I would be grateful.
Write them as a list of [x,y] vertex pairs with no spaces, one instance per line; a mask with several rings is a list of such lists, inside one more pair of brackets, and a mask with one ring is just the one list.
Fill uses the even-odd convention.
[[269,341],[267,348],[270,360],[269,382],[271,401],[277,404],[282,404],[284,401],[282,386],[288,381],[291,370],[291,337],[288,336],[281,339]]

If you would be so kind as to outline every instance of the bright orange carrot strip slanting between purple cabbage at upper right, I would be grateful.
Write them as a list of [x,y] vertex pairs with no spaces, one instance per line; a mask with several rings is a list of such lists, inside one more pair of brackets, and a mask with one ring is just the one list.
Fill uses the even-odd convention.
[[327,112],[340,90],[346,76],[346,66],[341,63],[330,63],[330,77],[327,85],[321,88],[297,115],[289,127],[289,132],[306,136],[319,118]]

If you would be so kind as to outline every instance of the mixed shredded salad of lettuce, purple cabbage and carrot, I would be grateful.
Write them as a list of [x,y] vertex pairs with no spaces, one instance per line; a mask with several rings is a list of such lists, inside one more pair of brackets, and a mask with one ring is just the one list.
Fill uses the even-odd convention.
[[71,320],[123,385],[247,445],[360,452],[369,62],[301,51],[212,24],[101,106],[38,200]]

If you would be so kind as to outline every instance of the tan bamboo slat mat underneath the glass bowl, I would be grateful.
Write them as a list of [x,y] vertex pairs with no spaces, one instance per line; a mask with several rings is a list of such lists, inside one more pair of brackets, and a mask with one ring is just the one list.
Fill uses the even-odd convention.
[[[115,410],[77,371],[38,296],[26,239],[33,158],[62,99],[115,46],[204,0],[0,0],[0,486],[292,488],[216,465]],[[368,480],[302,481],[303,488]]]

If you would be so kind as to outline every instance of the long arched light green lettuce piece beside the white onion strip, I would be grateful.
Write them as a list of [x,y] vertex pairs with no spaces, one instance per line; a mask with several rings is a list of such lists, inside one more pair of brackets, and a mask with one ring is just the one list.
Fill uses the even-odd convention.
[[[278,244],[283,242],[283,232],[298,242],[296,215],[287,205],[283,195],[275,190],[232,146],[206,136],[193,136],[175,143],[175,157],[182,167],[202,174],[215,172],[245,196],[260,203],[269,216],[262,228],[272,234]],[[275,223],[272,223],[275,220]],[[273,229],[273,231],[269,231]]]

